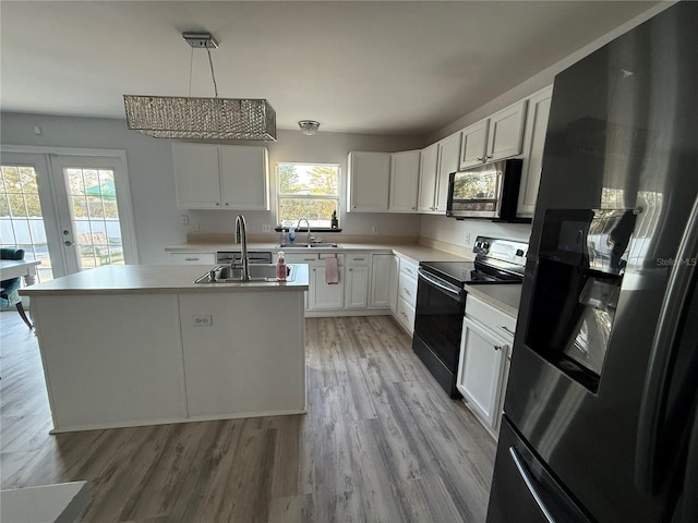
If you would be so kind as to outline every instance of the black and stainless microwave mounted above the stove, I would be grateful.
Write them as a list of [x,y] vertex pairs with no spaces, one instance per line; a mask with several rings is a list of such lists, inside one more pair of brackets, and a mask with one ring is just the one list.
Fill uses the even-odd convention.
[[514,158],[452,172],[446,216],[457,220],[521,221],[516,218],[521,163]]

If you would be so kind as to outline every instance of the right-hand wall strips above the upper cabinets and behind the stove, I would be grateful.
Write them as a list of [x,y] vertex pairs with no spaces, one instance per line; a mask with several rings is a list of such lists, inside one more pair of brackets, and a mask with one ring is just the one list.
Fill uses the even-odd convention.
[[[540,71],[534,74],[530,78],[520,83],[513,89],[503,93],[502,95],[493,98],[485,105],[479,107],[474,111],[459,118],[458,120],[449,123],[445,127],[438,130],[431,136],[426,144],[432,144],[434,142],[440,141],[443,137],[446,137],[453,133],[456,133],[468,125],[476,123],[483,118],[489,117],[490,114],[498,111],[500,109],[504,109],[505,107],[526,98],[533,93],[551,85],[555,78],[555,75],[561,71],[564,71],[575,62],[581,60],[583,57],[590,54],[597,49],[603,47],[609,41],[614,38],[621,36],[633,27],[641,24],[642,22],[651,19],[659,12],[664,9],[671,7],[675,2],[660,2],[657,5],[653,5],[645,13],[636,16],[635,19],[628,21],[627,23],[616,27],[612,32],[603,35],[600,38],[597,38],[592,42],[566,57],[565,59],[556,62],[555,64]],[[497,236],[497,238],[506,238],[512,240],[525,240],[528,241],[528,238],[531,234],[530,226],[526,224],[509,224],[503,226],[498,223],[492,223],[486,221],[476,221],[476,220],[466,220],[466,221],[456,221],[453,218],[446,218],[445,216],[423,216],[421,220],[420,227],[420,236],[428,238],[431,240],[436,240],[438,242],[446,242],[456,244],[459,246],[466,245],[465,239],[466,234],[470,234],[471,242],[474,241],[474,236],[478,234]],[[469,246],[469,245],[466,245]]]

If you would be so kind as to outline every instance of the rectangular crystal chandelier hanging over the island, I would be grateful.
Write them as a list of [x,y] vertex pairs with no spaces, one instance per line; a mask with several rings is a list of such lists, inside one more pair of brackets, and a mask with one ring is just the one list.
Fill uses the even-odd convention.
[[210,49],[218,47],[215,38],[182,36],[193,49],[206,49],[216,97],[123,95],[129,129],[156,138],[276,141],[276,112],[266,99],[218,98],[210,59]]

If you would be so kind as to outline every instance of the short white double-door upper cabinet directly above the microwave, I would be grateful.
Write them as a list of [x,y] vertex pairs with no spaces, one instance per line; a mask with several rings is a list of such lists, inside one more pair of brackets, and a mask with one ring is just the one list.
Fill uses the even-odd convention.
[[521,154],[526,102],[518,101],[462,131],[460,169]]

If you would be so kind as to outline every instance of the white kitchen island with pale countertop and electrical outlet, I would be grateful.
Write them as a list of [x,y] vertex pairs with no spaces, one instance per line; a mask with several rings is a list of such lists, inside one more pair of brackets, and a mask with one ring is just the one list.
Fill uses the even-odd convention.
[[53,430],[305,412],[303,292],[105,266],[28,287]]

